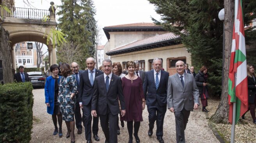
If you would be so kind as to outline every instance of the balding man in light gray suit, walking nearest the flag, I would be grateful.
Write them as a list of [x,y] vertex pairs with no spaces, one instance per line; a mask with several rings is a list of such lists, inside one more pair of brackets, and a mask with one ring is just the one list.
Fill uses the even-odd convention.
[[190,110],[199,106],[199,91],[194,76],[185,73],[185,63],[177,61],[177,73],[168,79],[167,108],[174,112],[176,142],[185,143],[185,133]]

